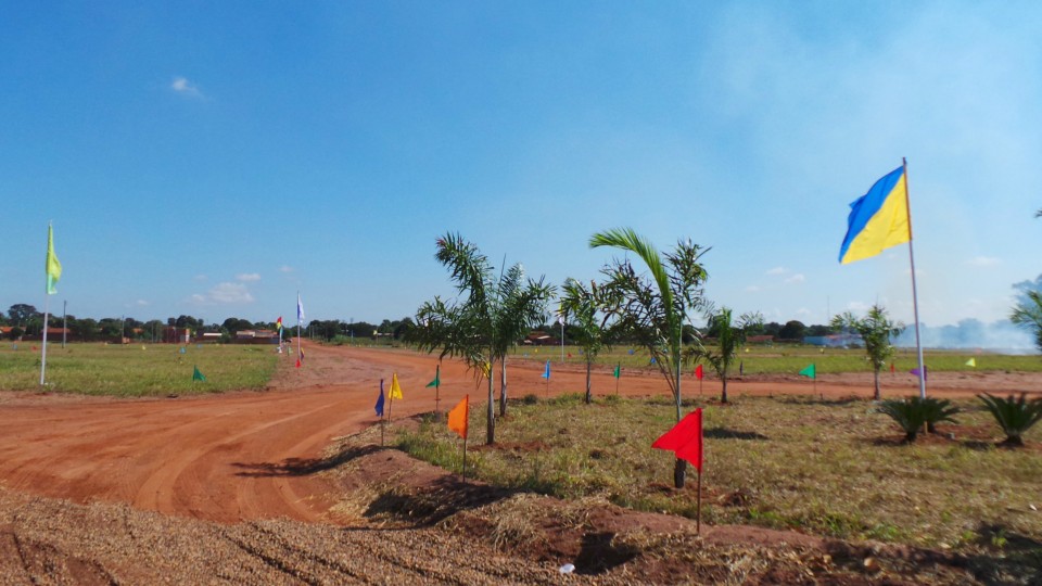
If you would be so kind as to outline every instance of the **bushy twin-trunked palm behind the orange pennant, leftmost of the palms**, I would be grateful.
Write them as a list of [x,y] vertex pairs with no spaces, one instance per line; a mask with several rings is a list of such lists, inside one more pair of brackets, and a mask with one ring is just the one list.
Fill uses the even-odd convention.
[[[495,383],[492,377],[496,359],[505,360],[509,347],[537,323],[554,295],[555,288],[525,280],[524,269],[513,265],[498,279],[495,267],[459,234],[437,240],[435,258],[449,269],[456,289],[466,298],[446,303],[441,297],[425,302],[417,310],[419,327],[412,340],[421,349],[441,349],[440,358],[462,358],[474,378],[488,381],[486,442],[494,444]],[[505,364],[505,362],[504,362]],[[506,370],[503,371],[501,409],[506,409]]]

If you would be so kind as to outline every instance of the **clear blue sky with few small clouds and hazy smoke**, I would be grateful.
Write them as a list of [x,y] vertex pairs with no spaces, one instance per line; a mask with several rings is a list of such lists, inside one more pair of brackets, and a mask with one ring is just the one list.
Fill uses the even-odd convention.
[[922,321],[1042,272],[1034,2],[71,2],[0,18],[0,308],[401,318],[458,231],[555,283],[597,231],[712,246],[709,296],[912,320],[907,247],[841,266],[908,160]]

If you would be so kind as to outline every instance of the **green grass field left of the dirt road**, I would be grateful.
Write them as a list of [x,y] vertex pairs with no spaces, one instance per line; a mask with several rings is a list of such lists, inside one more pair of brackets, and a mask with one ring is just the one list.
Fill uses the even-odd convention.
[[[38,343],[33,347],[33,343],[0,346],[0,391],[40,388]],[[46,388],[124,397],[260,388],[275,373],[277,359],[271,346],[67,344],[62,348],[50,343]],[[199,367],[205,381],[192,380],[193,367]]]

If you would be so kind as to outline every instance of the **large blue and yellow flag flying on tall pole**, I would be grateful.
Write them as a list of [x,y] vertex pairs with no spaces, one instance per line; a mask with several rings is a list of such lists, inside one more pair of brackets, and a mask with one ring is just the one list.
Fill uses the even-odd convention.
[[847,238],[839,249],[839,262],[846,265],[868,258],[910,240],[908,186],[904,166],[901,166],[850,204]]

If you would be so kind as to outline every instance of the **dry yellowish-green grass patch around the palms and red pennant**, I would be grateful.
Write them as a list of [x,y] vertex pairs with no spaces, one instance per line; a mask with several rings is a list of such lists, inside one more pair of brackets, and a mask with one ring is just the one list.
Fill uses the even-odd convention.
[[[1020,556],[1042,568],[1040,432],[1027,449],[995,446],[999,426],[978,402],[957,402],[948,436],[903,445],[892,421],[866,400],[742,397],[703,406],[702,519],[853,539]],[[471,410],[483,430],[484,410]],[[497,446],[474,434],[472,473],[490,483],[563,498],[600,496],[645,511],[694,517],[696,476],[672,488],[673,456],[651,449],[675,423],[669,399],[580,395],[526,397],[497,425]],[[459,470],[459,441],[425,420],[399,435],[414,456]]]

